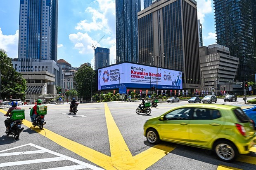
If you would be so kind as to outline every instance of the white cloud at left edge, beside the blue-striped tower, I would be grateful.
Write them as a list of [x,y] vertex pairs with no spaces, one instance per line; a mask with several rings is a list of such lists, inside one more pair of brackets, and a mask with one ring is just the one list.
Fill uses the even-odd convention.
[[10,58],[18,57],[19,30],[14,35],[4,35],[0,28],[0,48],[7,52]]

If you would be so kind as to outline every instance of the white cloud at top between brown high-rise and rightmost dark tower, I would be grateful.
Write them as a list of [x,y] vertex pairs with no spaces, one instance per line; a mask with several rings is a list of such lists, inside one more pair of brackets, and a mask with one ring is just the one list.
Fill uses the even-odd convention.
[[213,13],[212,0],[197,0],[197,17],[204,23],[206,14]]

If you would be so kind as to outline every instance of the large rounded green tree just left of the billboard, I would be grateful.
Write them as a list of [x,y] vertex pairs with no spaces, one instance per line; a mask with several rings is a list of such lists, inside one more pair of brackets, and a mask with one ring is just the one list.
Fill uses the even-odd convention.
[[74,81],[78,91],[78,96],[85,100],[90,100],[91,87],[92,94],[97,88],[95,83],[95,71],[90,66],[83,65],[82,68],[76,72]]

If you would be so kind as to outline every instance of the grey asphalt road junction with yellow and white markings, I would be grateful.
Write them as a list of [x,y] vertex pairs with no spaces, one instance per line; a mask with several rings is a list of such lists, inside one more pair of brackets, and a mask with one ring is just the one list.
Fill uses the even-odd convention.
[[[250,98],[247,98],[249,100]],[[69,105],[47,105],[47,123],[43,130],[33,128],[26,110],[24,131],[19,140],[4,133],[4,113],[0,109],[0,170],[67,169],[147,169],[147,170],[224,170],[256,169],[256,146],[249,155],[233,163],[219,161],[204,149],[161,142],[151,145],[143,135],[145,121],[187,101],[159,103],[150,115],[136,114],[140,102],[79,104],[77,116],[69,114]],[[217,104],[252,107],[218,100]],[[241,161],[242,160],[242,161]],[[248,161],[244,161],[248,160]]]

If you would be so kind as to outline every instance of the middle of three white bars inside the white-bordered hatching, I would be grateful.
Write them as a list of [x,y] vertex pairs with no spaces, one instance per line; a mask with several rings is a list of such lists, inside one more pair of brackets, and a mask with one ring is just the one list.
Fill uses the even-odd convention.
[[43,163],[43,162],[64,161],[64,160],[66,160],[66,159],[62,158],[62,157],[44,158],[44,159],[33,159],[33,160],[27,160],[27,161],[0,163],[0,167],[15,166],[15,165],[25,165],[25,164],[32,164],[32,163],[34,164],[34,163]]

